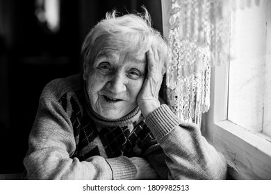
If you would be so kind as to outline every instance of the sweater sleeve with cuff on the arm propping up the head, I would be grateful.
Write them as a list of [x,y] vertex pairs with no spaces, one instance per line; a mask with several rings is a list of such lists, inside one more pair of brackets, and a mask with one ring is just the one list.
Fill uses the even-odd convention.
[[146,118],[158,145],[147,159],[162,179],[225,179],[226,161],[202,136],[199,127],[183,123],[167,105],[161,105]]

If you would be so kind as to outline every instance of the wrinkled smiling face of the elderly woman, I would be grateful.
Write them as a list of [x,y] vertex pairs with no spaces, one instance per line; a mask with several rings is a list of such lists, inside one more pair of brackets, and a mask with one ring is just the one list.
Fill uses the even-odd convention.
[[145,53],[129,56],[116,48],[102,49],[83,76],[92,109],[115,120],[129,114],[145,80]]

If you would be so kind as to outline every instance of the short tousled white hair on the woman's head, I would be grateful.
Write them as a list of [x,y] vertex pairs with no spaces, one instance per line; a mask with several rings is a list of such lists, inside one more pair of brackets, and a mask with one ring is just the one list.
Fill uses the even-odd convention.
[[114,44],[129,55],[147,52],[151,46],[160,51],[160,58],[167,60],[167,44],[161,34],[151,28],[151,17],[146,8],[144,14],[127,14],[118,17],[117,12],[107,12],[106,18],[90,30],[82,46],[84,68],[95,62],[102,48]]

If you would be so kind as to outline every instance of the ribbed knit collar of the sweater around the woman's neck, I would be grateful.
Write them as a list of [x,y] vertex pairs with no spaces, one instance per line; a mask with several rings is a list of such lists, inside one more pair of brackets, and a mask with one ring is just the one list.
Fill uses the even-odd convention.
[[109,120],[106,119],[99,114],[97,114],[90,105],[90,99],[88,98],[88,91],[86,89],[86,82],[83,80],[83,91],[84,91],[84,98],[86,103],[86,107],[88,109],[88,115],[97,123],[100,123],[101,125],[106,125],[108,127],[124,127],[126,125],[129,125],[135,121],[138,121],[140,118],[140,108],[136,106],[129,114],[126,114],[122,118],[119,118],[117,120]]

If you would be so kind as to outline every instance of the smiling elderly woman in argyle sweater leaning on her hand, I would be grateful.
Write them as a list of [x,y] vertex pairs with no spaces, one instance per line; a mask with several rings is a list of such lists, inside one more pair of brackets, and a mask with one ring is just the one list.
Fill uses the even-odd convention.
[[42,91],[25,179],[224,179],[224,157],[158,99],[167,45],[150,23],[113,12],[92,28],[83,73]]

